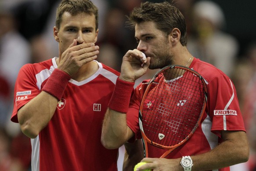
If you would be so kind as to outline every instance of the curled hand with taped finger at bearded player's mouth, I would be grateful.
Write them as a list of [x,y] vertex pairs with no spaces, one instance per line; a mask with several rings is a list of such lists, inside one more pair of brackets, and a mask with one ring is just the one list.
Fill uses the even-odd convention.
[[144,75],[150,65],[150,57],[143,58],[141,51],[128,50],[123,57],[120,78],[127,82],[135,82],[136,79]]

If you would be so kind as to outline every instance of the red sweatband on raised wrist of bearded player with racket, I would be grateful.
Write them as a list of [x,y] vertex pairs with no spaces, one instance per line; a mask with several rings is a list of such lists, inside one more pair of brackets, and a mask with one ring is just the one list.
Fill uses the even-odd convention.
[[126,82],[117,78],[109,108],[121,113],[127,113],[134,84],[134,82]]

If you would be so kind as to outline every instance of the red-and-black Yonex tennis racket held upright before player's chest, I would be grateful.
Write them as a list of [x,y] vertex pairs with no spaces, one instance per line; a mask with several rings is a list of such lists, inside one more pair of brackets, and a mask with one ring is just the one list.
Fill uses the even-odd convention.
[[159,70],[146,87],[139,108],[139,127],[148,157],[147,142],[167,149],[166,157],[197,129],[207,101],[204,79],[196,71],[169,65]]

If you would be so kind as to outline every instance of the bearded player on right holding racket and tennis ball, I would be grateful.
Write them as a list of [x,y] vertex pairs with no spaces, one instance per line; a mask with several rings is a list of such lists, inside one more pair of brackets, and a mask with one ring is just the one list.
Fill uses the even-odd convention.
[[[128,50],[123,57],[121,75],[117,78],[103,122],[103,146],[116,149],[127,141],[141,139],[145,134],[143,142],[147,148],[144,147],[146,157],[142,161],[147,164],[140,166],[138,171],[229,171],[229,166],[247,161],[247,136],[234,84],[222,71],[193,57],[187,50],[186,24],[181,12],[168,2],[146,2],[136,7],[128,19],[128,24],[135,28],[138,46],[137,49]],[[143,58],[141,52],[146,54],[146,58]],[[168,65],[180,65],[195,71],[190,78],[193,81],[197,77],[202,78],[201,82],[206,86],[205,93],[199,97],[191,97],[196,94],[194,92],[197,89],[203,89],[203,84],[185,88],[184,86],[192,85],[193,81],[179,83],[187,78],[189,70],[182,70],[174,75],[164,71],[161,74],[164,75],[163,78],[157,76],[153,83],[152,80],[145,80],[133,91],[135,80],[144,75],[148,68],[161,69]],[[172,69],[169,68],[168,71],[170,70]],[[165,84],[161,80],[165,80]],[[150,89],[147,89],[148,86],[151,86]],[[160,87],[168,88],[161,90]],[[158,96],[149,97],[148,94],[154,94],[156,89]],[[188,92],[188,89],[193,92]],[[176,94],[179,90],[183,91],[180,95]],[[171,98],[174,94],[179,96]],[[170,97],[171,100],[162,100],[165,97]],[[198,104],[201,106],[198,108],[189,106],[194,98],[199,99]],[[180,103],[170,106],[169,103],[175,100]],[[168,108],[163,107],[168,105]],[[178,109],[179,107],[183,110]],[[167,114],[167,110],[174,111]],[[186,110],[189,110],[187,115],[179,116]],[[190,115],[200,114],[201,111],[201,120]],[[148,113],[151,115],[148,116]],[[167,117],[170,119],[166,120]],[[152,123],[149,120],[153,120]],[[199,121],[194,128],[183,125],[183,122],[190,123],[193,120]],[[176,125],[173,126],[176,129],[169,131],[170,125]],[[162,127],[164,130],[159,131]],[[166,143],[168,137],[175,137],[186,130],[191,132],[190,136],[174,138],[177,141],[183,139],[181,142]],[[173,149],[169,150],[173,145]],[[143,149],[142,146],[141,148]],[[166,154],[167,150],[170,153]]]

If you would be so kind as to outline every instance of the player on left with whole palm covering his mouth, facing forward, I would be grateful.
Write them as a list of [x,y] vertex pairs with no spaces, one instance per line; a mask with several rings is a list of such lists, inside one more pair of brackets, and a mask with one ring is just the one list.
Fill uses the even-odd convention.
[[95,61],[98,17],[90,0],[62,0],[53,29],[59,57],[19,71],[11,121],[31,139],[32,171],[117,171],[118,149],[100,139],[120,73]]

